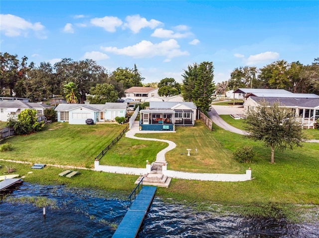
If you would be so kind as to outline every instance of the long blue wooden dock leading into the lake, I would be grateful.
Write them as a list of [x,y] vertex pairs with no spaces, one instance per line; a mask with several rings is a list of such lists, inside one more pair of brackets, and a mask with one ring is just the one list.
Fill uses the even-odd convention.
[[157,187],[143,186],[112,238],[136,238],[149,210]]

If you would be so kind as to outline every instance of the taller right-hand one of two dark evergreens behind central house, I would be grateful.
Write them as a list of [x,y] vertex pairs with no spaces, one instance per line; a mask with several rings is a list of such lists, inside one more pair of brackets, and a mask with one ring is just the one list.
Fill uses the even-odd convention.
[[215,90],[213,62],[204,61],[198,67],[198,78],[193,90],[193,101],[201,110],[209,111]]

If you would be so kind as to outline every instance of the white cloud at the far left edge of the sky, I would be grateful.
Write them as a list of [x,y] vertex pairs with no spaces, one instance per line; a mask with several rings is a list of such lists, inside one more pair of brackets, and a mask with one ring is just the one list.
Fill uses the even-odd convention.
[[27,36],[29,30],[35,32],[38,38],[46,39],[44,26],[40,22],[31,23],[23,18],[11,14],[0,14],[0,30],[9,37]]

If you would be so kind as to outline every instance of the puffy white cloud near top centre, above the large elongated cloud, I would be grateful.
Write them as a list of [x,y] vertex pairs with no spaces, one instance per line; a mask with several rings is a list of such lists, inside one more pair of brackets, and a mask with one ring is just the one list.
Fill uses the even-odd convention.
[[127,16],[125,20],[126,23],[124,24],[123,28],[129,28],[134,33],[138,33],[142,28],[145,27],[154,29],[162,24],[160,21],[155,19],[148,21],[146,18],[141,17],[140,15]]

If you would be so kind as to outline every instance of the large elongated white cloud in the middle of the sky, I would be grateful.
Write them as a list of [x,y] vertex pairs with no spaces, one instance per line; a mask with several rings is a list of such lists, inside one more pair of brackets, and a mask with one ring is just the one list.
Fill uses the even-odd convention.
[[[174,57],[189,55],[187,51],[180,51],[176,40],[170,39],[162,41],[158,44],[153,44],[151,41],[143,40],[140,43],[118,49],[117,47],[101,47],[106,52],[111,52],[117,55],[127,55],[133,58],[152,58],[155,56],[164,56],[166,60]],[[166,61],[165,60],[165,61]]]

